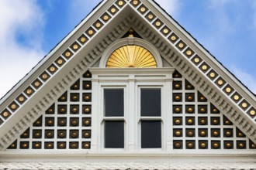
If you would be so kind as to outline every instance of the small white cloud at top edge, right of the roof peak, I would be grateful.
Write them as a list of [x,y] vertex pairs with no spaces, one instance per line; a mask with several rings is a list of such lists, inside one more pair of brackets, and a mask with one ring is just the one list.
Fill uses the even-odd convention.
[[156,2],[161,5],[162,8],[170,15],[176,15],[178,12],[178,8],[180,6],[180,2],[178,0],[156,0]]

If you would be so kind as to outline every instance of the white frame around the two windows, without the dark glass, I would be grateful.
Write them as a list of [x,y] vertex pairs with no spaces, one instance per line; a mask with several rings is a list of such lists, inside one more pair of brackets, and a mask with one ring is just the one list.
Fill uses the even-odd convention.
[[[173,68],[91,68],[92,73],[92,143],[91,151],[97,153],[164,153],[172,147],[172,73]],[[140,147],[140,126],[138,124],[138,90],[140,87],[161,88],[161,148]],[[104,148],[103,97],[104,88],[125,88],[125,147]]]

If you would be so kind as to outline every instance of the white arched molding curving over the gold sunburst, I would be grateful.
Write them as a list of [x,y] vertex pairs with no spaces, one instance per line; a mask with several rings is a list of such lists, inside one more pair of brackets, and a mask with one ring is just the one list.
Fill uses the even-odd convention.
[[157,49],[152,44],[150,44],[150,42],[147,42],[144,39],[138,39],[136,37],[127,37],[123,39],[118,39],[116,40],[116,42],[113,42],[102,54],[102,59],[100,60],[99,67],[105,68],[106,63],[109,59],[109,56],[119,47],[127,46],[127,45],[137,45],[137,46],[144,47],[154,56],[154,59],[157,62],[157,67],[159,68],[163,67],[163,62]]

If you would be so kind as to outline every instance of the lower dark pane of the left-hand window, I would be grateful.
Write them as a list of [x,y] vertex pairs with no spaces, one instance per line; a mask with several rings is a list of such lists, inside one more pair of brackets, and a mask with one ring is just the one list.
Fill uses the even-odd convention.
[[124,121],[105,122],[105,148],[124,148]]

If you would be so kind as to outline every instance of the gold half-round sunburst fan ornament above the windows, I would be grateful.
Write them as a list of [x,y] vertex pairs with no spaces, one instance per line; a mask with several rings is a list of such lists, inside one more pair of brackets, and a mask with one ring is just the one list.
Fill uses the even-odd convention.
[[142,46],[122,46],[109,56],[106,67],[154,68],[157,67],[157,62],[154,56]]

